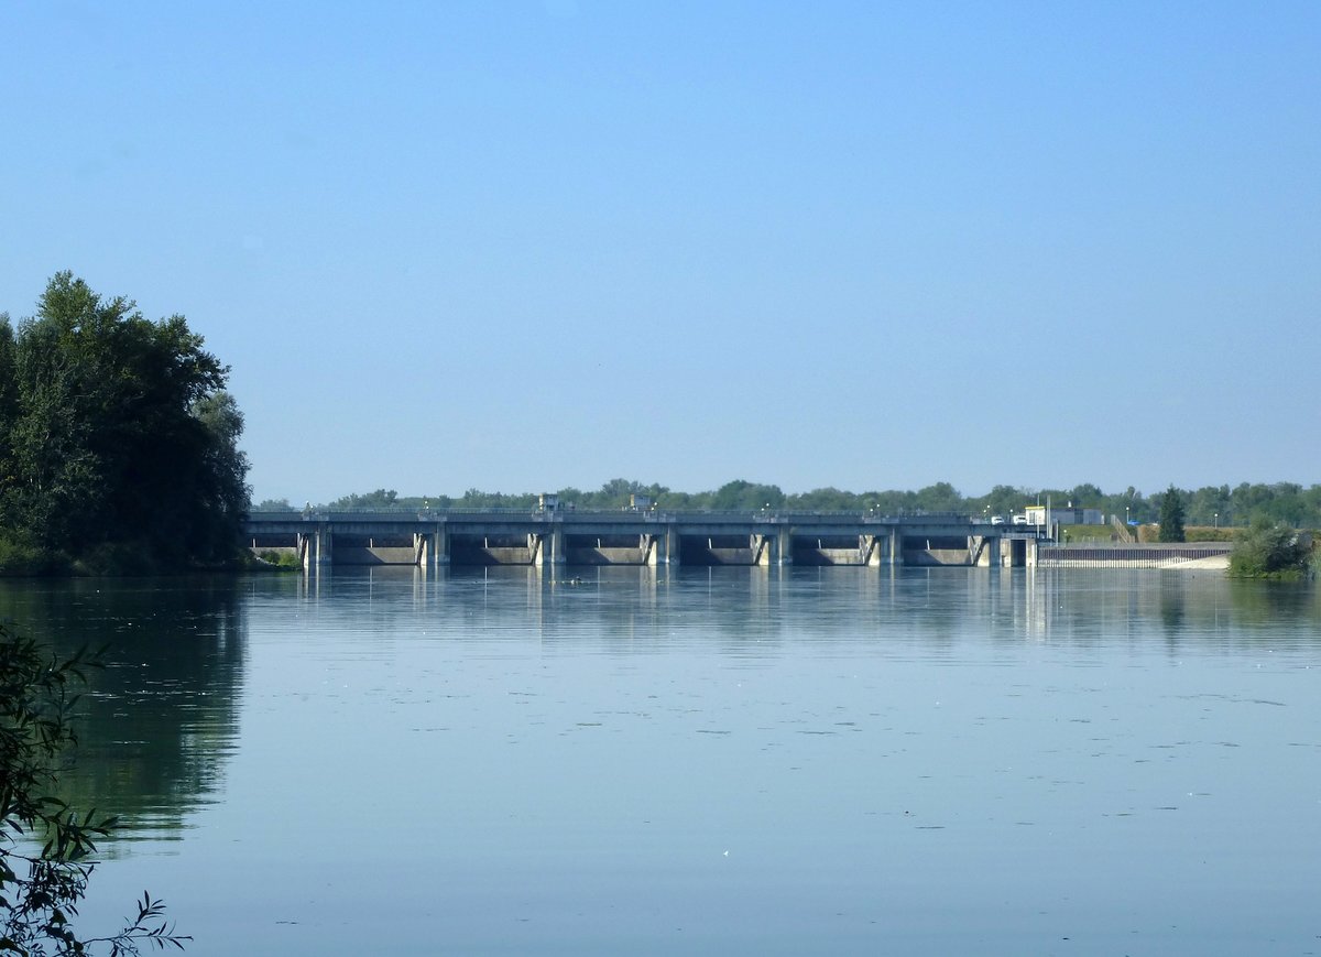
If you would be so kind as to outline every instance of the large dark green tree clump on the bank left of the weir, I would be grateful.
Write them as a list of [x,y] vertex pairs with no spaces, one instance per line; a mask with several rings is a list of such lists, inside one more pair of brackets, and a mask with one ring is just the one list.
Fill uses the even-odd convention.
[[0,316],[0,553],[116,570],[231,558],[248,467],[227,375],[182,316],[148,321],[70,272],[17,333]]

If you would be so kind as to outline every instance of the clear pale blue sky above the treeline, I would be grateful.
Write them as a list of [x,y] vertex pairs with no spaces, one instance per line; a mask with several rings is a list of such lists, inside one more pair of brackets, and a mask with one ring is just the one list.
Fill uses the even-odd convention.
[[1321,4],[0,5],[0,309],[255,498],[1321,482]]

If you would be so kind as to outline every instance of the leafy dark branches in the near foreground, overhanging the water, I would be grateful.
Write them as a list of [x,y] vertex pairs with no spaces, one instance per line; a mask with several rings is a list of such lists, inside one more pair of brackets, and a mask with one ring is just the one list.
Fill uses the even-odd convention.
[[[111,937],[78,937],[73,917],[95,868],[96,839],[112,818],[79,814],[55,796],[57,767],[77,744],[77,686],[94,656],[49,656],[30,637],[0,624],[0,950],[83,954],[107,944],[111,957],[139,953],[139,944],[184,948],[164,907],[149,894],[137,917]],[[44,841],[44,845],[38,842]]]

